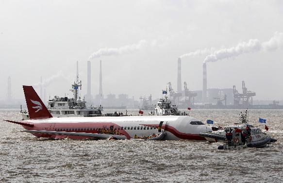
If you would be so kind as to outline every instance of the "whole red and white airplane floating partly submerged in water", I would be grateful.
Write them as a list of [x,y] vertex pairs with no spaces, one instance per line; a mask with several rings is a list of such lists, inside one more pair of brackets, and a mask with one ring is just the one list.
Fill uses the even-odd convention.
[[[212,132],[196,118],[190,116],[98,116],[52,117],[32,86],[23,86],[29,111],[29,120],[11,121],[22,125],[21,132],[36,137],[53,139],[131,139],[134,135],[150,136],[166,133],[163,140],[201,140],[201,132]],[[103,130],[102,130],[103,129]],[[101,132],[115,132],[112,134]]]

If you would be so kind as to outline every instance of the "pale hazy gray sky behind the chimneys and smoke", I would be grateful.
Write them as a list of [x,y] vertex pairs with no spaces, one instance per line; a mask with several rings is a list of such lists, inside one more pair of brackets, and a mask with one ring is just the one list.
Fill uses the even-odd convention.
[[[104,95],[158,98],[168,82],[177,90],[181,55],[265,42],[275,32],[283,33],[282,0],[0,0],[0,100],[7,97],[8,76],[15,99],[40,76],[47,96],[64,95],[76,61],[85,94],[91,55],[93,95],[102,60]],[[182,58],[182,83],[190,90],[202,89],[206,56]],[[283,100],[282,47],[208,63],[207,73],[208,88],[241,91],[244,80],[254,100]]]

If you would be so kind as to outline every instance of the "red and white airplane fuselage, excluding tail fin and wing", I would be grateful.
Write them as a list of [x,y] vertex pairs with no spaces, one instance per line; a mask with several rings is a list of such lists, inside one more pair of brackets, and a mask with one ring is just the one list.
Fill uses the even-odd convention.
[[[150,136],[158,133],[158,126],[163,121],[162,129],[166,132],[164,140],[205,140],[199,133],[211,131],[205,125],[191,124],[198,121],[190,116],[101,116],[101,117],[51,117],[45,119],[26,120],[34,126],[23,126],[26,130],[98,133],[99,129],[113,129],[127,139],[137,136]],[[55,138],[55,134],[33,133],[37,137]],[[67,135],[65,135],[67,136]],[[69,138],[85,138],[68,136]],[[91,138],[91,137],[89,137]]]

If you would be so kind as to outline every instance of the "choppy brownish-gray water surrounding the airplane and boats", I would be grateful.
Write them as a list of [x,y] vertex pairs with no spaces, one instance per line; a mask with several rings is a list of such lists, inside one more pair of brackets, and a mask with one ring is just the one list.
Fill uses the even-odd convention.
[[[225,126],[237,122],[239,112],[193,110],[190,116]],[[251,124],[259,126],[259,117],[267,119],[268,133],[278,141],[234,151],[185,140],[46,140],[0,120],[0,182],[283,182],[283,110],[250,110]],[[21,117],[18,110],[1,109],[0,119]]]

